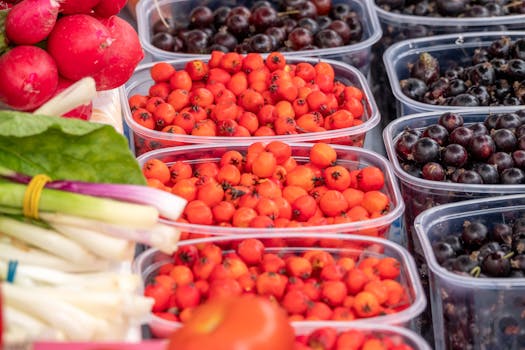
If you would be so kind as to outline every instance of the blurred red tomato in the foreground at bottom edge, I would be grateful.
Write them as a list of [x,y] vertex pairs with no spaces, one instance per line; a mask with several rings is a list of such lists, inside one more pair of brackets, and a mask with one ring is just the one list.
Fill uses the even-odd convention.
[[197,307],[170,337],[167,350],[292,350],[285,312],[267,299],[243,295]]

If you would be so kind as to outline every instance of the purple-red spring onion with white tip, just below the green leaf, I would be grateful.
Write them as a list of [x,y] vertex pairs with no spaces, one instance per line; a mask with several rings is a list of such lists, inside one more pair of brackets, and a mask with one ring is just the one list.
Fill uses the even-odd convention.
[[[31,181],[31,176],[1,166],[0,177],[21,184]],[[150,205],[157,208],[159,214],[169,220],[177,220],[186,206],[186,200],[182,197],[147,186],[56,180],[48,182],[46,188]]]

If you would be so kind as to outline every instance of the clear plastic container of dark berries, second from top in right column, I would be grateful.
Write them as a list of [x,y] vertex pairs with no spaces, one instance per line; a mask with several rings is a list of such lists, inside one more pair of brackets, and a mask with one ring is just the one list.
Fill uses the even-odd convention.
[[[525,31],[439,35],[404,40],[390,46],[383,55],[383,61],[390,81],[390,87],[396,98],[397,116],[431,111],[445,112],[452,108],[462,108],[431,105],[413,100],[403,94],[399,81],[408,78],[408,65],[414,63],[422,52],[428,52],[434,56],[439,61],[440,68],[444,70],[451,62],[459,65],[462,65],[464,61],[470,62],[471,55],[475,49],[488,47],[494,40],[504,36],[516,40],[525,37]],[[492,106],[490,110],[496,112],[504,108]],[[392,118],[393,116],[390,117]]]

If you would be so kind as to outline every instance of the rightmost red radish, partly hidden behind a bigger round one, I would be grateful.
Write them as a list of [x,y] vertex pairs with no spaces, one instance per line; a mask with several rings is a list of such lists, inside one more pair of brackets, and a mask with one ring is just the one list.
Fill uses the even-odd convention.
[[144,52],[133,27],[118,16],[102,18],[113,43],[109,47],[104,68],[93,75],[97,90],[109,90],[124,84],[133,74],[138,63],[144,58]]

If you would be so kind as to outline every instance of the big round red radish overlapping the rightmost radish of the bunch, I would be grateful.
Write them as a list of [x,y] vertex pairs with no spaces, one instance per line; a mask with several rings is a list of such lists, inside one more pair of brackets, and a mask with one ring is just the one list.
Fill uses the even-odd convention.
[[94,17],[64,16],[49,35],[47,51],[57,62],[60,75],[78,80],[104,67],[112,40],[106,27]]

